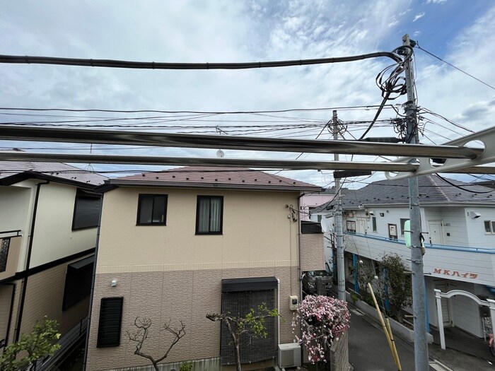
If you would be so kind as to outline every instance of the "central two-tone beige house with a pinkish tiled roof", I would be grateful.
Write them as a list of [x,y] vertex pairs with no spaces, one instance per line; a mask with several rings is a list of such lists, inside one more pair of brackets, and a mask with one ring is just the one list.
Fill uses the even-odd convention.
[[[86,370],[147,365],[127,330],[152,320],[143,351],[170,343],[161,324],[186,335],[164,362],[197,360],[201,370],[233,363],[226,327],[208,313],[243,314],[266,303],[266,339],[243,339],[244,363],[272,365],[277,343],[292,343],[291,295],[301,273],[323,269],[322,233],[302,234],[298,197],[320,187],[244,168],[181,167],[110,179],[103,213]],[[178,365],[173,365],[178,370]]]

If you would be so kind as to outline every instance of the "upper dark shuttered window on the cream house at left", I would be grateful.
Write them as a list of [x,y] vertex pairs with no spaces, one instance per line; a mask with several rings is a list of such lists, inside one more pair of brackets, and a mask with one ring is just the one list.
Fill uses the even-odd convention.
[[78,189],[74,201],[72,230],[98,227],[100,222],[101,196]]

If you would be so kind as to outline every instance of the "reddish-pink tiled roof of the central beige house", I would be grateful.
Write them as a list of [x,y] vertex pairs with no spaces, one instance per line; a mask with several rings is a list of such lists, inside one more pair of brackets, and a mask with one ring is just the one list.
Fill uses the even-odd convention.
[[133,186],[249,188],[319,191],[321,187],[245,167],[178,167],[110,179],[110,184]]

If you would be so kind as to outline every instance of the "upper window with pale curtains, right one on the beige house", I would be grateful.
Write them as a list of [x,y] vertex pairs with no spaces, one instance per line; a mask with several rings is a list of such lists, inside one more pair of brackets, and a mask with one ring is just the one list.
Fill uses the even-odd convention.
[[197,235],[221,235],[223,196],[198,196],[196,210]]

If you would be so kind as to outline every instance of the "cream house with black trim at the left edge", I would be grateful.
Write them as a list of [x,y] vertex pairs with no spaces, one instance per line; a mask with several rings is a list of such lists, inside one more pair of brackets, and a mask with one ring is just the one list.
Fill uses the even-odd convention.
[[88,316],[105,177],[63,163],[0,162],[0,353],[37,319]]

